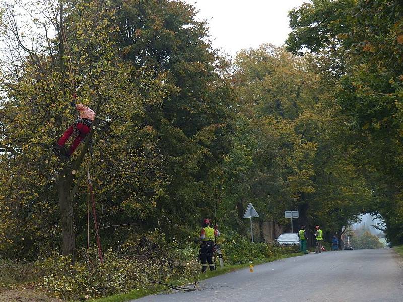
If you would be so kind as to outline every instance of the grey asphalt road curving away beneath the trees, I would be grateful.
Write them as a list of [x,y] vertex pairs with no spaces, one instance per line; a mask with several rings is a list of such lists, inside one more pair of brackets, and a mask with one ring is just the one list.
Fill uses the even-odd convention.
[[195,292],[136,302],[401,302],[401,257],[392,249],[327,251],[287,258],[201,281]]

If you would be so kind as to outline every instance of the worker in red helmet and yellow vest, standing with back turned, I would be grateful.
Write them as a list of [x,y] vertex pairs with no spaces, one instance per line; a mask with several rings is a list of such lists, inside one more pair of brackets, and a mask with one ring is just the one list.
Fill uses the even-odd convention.
[[209,263],[210,270],[214,270],[213,253],[214,253],[214,236],[220,236],[217,230],[217,225],[214,229],[210,227],[209,219],[203,220],[203,229],[200,232],[200,258],[201,258],[201,272],[207,269]]

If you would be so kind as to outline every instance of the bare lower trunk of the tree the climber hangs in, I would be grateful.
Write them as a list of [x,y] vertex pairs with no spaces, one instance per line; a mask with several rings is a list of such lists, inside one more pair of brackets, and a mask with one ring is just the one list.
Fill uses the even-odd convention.
[[63,239],[63,256],[72,255],[72,263],[74,264],[76,243],[74,238],[73,204],[70,191],[71,181],[65,177],[61,177],[59,182],[59,203]]

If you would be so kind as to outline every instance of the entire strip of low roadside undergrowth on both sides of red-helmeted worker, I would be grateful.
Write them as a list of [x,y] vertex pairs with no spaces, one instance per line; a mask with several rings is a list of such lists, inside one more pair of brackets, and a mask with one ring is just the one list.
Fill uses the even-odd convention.
[[[119,252],[111,248],[104,251],[103,263],[98,259],[95,246],[79,252],[74,265],[70,257],[58,252],[51,252],[35,264],[0,260],[0,287],[36,282],[57,297],[77,300],[150,288],[152,283],[185,284],[196,280],[200,272],[199,245],[189,242],[168,244],[164,238],[160,230],[133,235]],[[297,251],[296,247],[251,243],[239,235],[223,236],[219,243],[228,264],[270,261]],[[173,248],[167,248],[170,246]]]

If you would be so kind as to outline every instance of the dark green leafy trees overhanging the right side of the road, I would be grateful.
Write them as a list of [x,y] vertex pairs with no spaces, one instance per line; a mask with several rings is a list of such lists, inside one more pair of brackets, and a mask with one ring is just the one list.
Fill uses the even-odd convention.
[[335,101],[355,133],[353,163],[374,195],[367,210],[381,215],[396,244],[403,240],[402,14],[398,1],[314,0],[289,13],[286,42],[294,53],[309,49],[334,79]]

